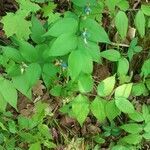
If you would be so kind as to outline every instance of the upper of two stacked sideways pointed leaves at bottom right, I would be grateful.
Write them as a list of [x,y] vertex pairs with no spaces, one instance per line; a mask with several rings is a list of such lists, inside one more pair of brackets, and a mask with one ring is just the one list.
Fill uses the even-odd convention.
[[140,133],[143,130],[142,126],[137,123],[124,124],[121,126],[121,129],[132,134]]

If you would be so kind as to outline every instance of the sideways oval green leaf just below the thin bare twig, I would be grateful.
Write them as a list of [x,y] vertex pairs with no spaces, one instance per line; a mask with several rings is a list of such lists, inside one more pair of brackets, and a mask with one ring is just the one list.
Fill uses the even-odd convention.
[[101,57],[110,60],[110,61],[118,61],[121,58],[120,53],[117,50],[109,49],[101,52]]

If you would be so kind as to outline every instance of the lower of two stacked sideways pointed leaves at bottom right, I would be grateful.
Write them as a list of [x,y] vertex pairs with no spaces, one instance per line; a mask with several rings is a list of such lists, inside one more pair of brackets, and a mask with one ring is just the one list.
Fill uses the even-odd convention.
[[142,140],[142,136],[139,134],[129,134],[121,139],[121,142],[126,142],[128,144],[139,144]]

